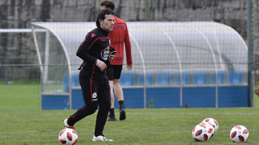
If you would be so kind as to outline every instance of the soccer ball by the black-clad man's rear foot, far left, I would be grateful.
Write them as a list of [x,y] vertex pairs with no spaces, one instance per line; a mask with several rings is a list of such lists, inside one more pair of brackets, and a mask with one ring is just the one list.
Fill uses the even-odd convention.
[[65,145],[73,145],[77,143],[77,132],[75,130],[70,128],[65,128],[61,130],[61,132],[58,135],[58,140],[60,144]]

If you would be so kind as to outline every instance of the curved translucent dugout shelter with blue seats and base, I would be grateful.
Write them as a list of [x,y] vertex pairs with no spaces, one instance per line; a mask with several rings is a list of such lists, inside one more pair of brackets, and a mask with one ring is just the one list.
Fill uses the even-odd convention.
[[[123,65],[120,79],[126,108],[248,106],[247,46],[233,28],[212,21],[127,27],[133,68]],[[31,28],[41,64],[42,109],[82,107],[77,69],[83,60],[76,52],[95,22],[33,22]]]

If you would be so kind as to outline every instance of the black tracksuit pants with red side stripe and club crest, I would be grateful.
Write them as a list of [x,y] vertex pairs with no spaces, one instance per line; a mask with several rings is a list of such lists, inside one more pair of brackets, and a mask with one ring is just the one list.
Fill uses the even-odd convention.
[[79,76],[79,83],[82,89],[85,106],[79,108],[69,117],[68,125],[73,126],[84,117],[95,113],[99,105],[94,132],[95,136],[99,136],[102,134],[111,107],[111,88],[108,78],[92,79]]

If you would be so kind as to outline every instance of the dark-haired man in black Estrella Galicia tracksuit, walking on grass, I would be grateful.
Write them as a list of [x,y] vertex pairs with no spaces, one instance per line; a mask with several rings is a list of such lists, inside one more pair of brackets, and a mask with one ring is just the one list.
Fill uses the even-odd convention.
[[108,34],[113,29],[114,15],[115,13],[109,9],[100,11],[96,18],[97,28],[86,35],[77,50],[77,56],[83,60],[79,68],[79,83],[85,106],[64,120],[65,128],[74,129],[76,122],[95,113],[99,105],[92,141],[113,141],[105,138],[102,131],[111,107],[110,85],[105,69],[109,61],[114,58],[114,55],[110,54]]

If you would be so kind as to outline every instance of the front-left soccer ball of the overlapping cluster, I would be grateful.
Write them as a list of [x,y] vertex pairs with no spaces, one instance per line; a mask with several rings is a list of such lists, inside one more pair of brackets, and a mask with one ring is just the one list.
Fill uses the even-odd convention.
[[211,134],[208,133],[209,128],[204,124],[198,124],[193,128],[193,138],[197,142],[205,142],[210,139]]

